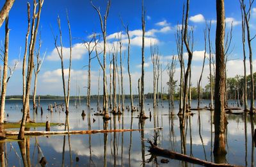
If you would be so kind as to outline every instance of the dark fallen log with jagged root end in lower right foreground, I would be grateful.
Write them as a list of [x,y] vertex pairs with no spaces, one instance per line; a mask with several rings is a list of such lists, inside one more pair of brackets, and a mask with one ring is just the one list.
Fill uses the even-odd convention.
[[180,154],[177,152],[172,152],[170,150],[166,150],[163,148],[159,148],[156,145],[154,145],[154,143],[152,143],[152,141],[150,139],[148,139],[148,143],[150,143],[150,147],[148,152],[150,152],[151,154],[155,154],[155,155],[159,155],[159,156],[163,156],[163,157],[168,157],[170,159],[177,159],[180,161],[186,161],[188,163],[193,163],[193,164],[200,164],[202,166],[227,166],[227,167],[237,167],[234,164],[216,164],[216,163],[212,163],[209,161],[204,161],[202,159],[198,159],[195,157],[190,157],[189,155],[184,155],[184,154]]

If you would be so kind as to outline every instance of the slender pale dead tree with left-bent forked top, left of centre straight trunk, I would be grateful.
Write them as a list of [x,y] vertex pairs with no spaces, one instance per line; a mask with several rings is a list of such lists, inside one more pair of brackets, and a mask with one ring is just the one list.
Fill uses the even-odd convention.
[[125,33],[128,37],[128,48],[127,48],[127,68],[128,68],[128,76],[129,76],[129,88],[130,88],[130,100],[131,100],[131,111],[134,111],[134,106],[133,106],[133,97],[132,97],[132,81],[131,81],[131,72],[130,72],[130,45],[131,45],[131,39],[130,39],[130,35],[129,35],[129,26],[127,24],[127,26],[124,25],[124,22],[122,21],[122,25],[124,26],[125,29]]

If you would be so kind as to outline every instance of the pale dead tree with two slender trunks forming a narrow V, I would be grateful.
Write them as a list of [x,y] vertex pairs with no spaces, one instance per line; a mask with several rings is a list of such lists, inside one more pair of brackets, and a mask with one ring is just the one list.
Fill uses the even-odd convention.
[[[58,55],[61,60],[61,76],[62,76],[62,84],[63,84],[63,93],[65,98],[65,106],[66,106],[66,115],[68,115],[68,107],[69,107],[69,95],[70,95],[70,72],[71,72],[71,63],[72,63],[72,36],[71,36],[71,29],[70,29],[70,22],[68,19],[68,13],[67,13],[67,23],[68,23],[68,33],[69,33],[69,47],[70,47],[70,54],[69,54],[69,68],[68,68],[68,86],[67,86],[67,92],[66,92],[66,86],[65,86],[65,77],[64,77],[64,63],[63,63],[63,43],[62,43],[62,32],[61,32],[61,20],[58,16],[57,19],[58,22],[58,28],[60,31],[60,47],[57,45],[57,36],[53,35],[54,37],[54,45],[56,47],[56,50],[58,52]],[[53,33],[53,32],[52,32]]]

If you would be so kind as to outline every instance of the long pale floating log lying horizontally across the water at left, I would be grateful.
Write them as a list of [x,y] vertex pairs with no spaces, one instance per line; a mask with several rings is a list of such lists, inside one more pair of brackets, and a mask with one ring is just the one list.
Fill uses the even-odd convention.
[[[109,130],[88,130],[88,131],[25,131],[26,136],[46,136],[46,135],[60,135],[60,134],[95,134],[108,132],[131,132],[131,131],[146,131],[146,130],[161,130],[163,127],[156,127],[150,129],[109,129]],[[19,131],[6,131],[6,136],[17,136]]]

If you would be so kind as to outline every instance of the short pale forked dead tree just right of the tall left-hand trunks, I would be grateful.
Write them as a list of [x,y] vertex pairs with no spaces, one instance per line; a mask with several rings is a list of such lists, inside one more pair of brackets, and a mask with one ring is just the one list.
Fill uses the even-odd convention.
[[38,47],[38,51],[36,52],[36,66],[34,65],[34,74],[35,74],[35,79],[34,79],[34,91],[33,91],[33,109],[36,108],[36,85],[37,85],[37,76],[38,76],[38,73],[40,72],[40,68],[42,66],[42,63],[44,62],[44,58],[45,58],[45,54],[46,52],[44,53],[44,56],[43,58],[41,59],[40,58],[40,49],[41,49],[41,45],[42,45],[42,42],[41,42],[41,34],[39,35],[39,40],[38,40],[38,43],[39,43],[39,47]]

